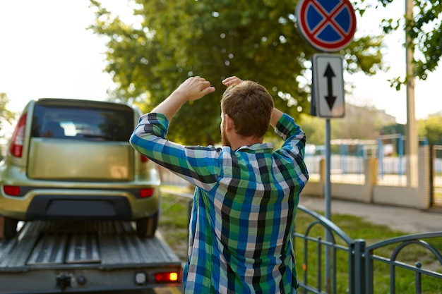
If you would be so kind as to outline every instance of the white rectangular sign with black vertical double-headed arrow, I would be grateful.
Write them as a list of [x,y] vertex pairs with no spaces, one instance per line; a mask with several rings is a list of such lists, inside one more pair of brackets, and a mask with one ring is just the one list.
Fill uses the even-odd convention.
[[316,116],[342,118],[345,115],[344,78],[342,56],[336,54],[314,54],[312,100]]

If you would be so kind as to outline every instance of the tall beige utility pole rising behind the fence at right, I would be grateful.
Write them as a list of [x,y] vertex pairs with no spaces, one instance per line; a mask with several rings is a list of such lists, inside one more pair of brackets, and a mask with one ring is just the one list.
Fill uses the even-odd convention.
[[[407,21],[413,21],[413,0],[405,0],[405,17]],[[414,64],[413,64],[413,40],[408,33],[408,28],[405,29],[405,59],[407,62],[407,187],[417,188],[417,150],[419,141],[417,137],[417,123],[414,109]]]

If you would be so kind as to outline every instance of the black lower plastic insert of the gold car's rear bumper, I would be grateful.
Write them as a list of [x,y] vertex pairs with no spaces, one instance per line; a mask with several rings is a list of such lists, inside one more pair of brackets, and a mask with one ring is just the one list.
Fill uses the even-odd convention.
[[132,219],[131,205],[126,197],[96,195],[38,195],[32,199],[26,220],[92,221]]

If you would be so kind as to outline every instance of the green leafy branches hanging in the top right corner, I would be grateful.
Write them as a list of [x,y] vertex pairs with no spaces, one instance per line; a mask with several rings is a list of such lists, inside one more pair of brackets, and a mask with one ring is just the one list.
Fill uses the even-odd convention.
[[[405,1],[406,0],[402,0]],[[368,0],[362,0],[368,2]],[[378,4],[386,7],[393,0],[378,0]],[[414,75],[426,80],[429,73],[435,71],[442,55],[442,1],[441,0],[413,0],[412,19],[384,19],[381,23],[387,34],[395,30],[404,30],[412,39],[409,46],[414,54]],[[407,79],[395,78],[392,85],[398,90]]]

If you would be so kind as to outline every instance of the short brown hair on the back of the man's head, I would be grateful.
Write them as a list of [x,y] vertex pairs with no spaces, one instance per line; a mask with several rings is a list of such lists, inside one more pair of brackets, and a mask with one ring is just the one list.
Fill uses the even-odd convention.
[[221,111],[232,118],[239,135],[263,137],[270,125],[273,98],[262,85],[245,80],[227,88]]

